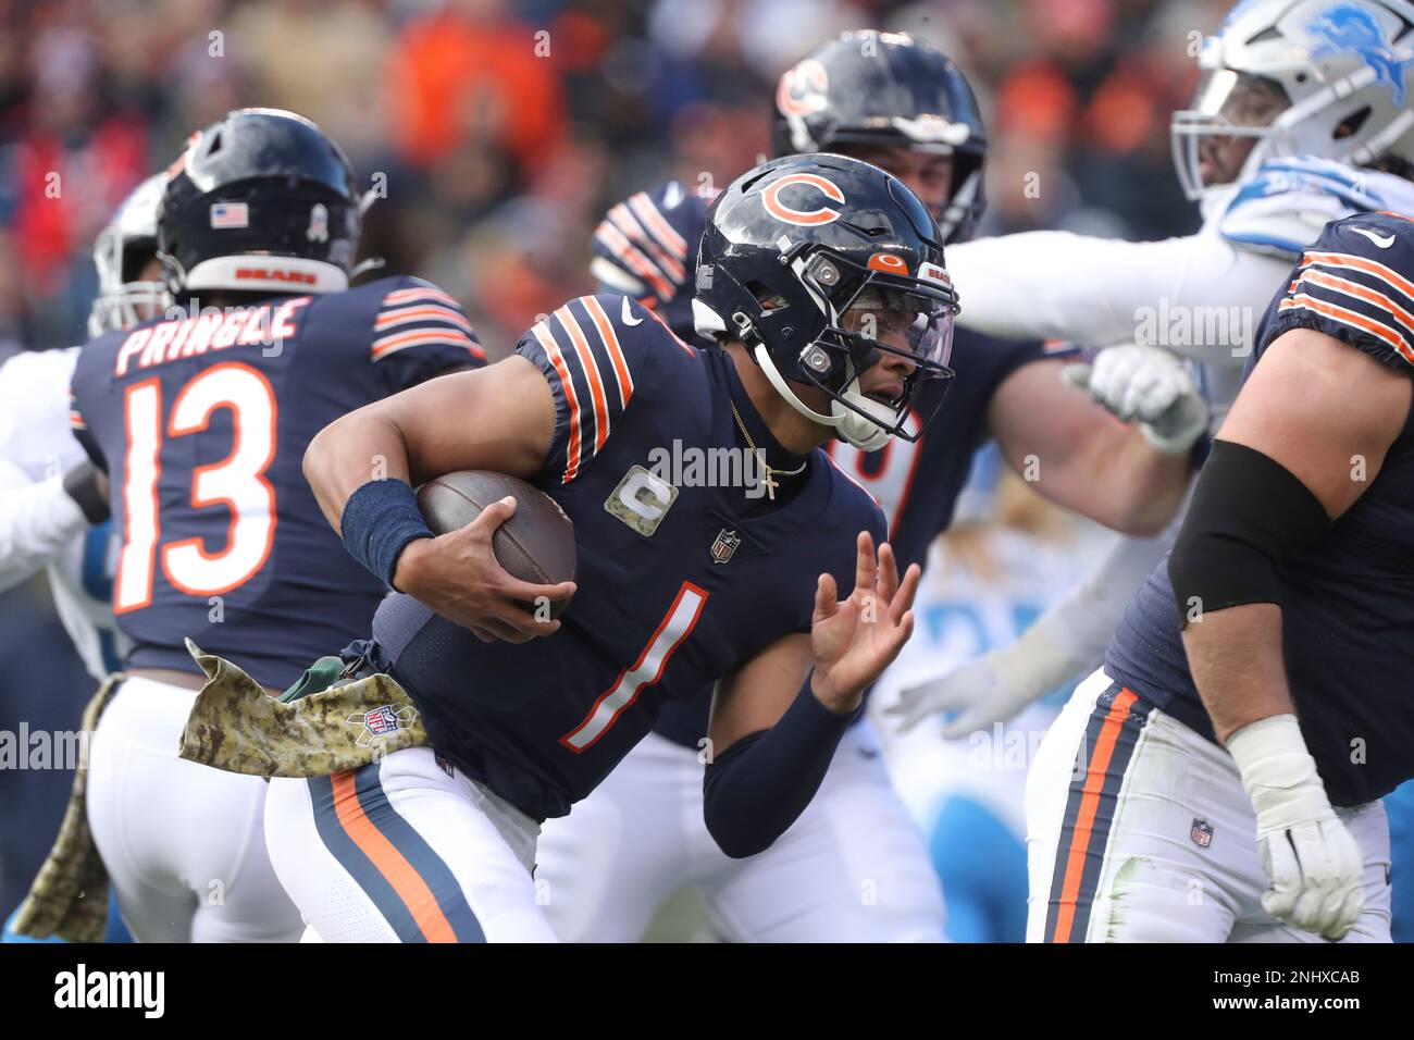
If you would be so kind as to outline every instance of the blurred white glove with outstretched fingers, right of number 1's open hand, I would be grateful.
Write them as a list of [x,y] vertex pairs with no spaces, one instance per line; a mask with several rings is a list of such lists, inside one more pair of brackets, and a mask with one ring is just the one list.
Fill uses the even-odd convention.
[[945,740],[957,740],[1012,717],[1065,682],[1075,666],[1069,652],[1044,628],[1032,625],[1001,649],[983,654],[947,675],[905,686],[898,703],[885,713],[902,716],[898,729],[906,733],[939,712],[957,712],[942,727]]

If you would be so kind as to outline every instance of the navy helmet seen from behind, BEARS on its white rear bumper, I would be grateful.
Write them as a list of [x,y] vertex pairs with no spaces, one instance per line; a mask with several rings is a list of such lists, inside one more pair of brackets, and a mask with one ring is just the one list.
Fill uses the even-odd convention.
[[359,202],[354,167],[308,119],[230,112],[168,171],[157,250],[173,294],[348,289]]

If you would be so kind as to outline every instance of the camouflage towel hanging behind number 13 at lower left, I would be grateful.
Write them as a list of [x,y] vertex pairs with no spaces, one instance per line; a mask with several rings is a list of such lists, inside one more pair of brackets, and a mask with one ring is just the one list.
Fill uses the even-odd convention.
[[74,770],[69,807],[64,811],[54,848],[16,914],[14,931],[18,935],[102,942],[107,932],[107,870],[88,828],[88,754],[99,716],[122,682],[122,675],[107,676],[83,709],[83,743]]

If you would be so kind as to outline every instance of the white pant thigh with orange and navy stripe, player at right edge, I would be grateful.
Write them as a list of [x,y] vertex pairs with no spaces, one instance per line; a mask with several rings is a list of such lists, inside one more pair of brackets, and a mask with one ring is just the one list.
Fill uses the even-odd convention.
[[1080,683],[1027,780],[1028,941],[1225,941],[1254,845],[1229,774],[1103,671]]

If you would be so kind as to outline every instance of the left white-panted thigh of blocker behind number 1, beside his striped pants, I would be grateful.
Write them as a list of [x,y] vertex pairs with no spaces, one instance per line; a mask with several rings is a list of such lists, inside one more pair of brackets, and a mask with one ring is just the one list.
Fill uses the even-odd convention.
[[561,942],[642,937],[691,880],[701,790],[697,750],[649,733],[568,816],[544,822],[536,890]]

